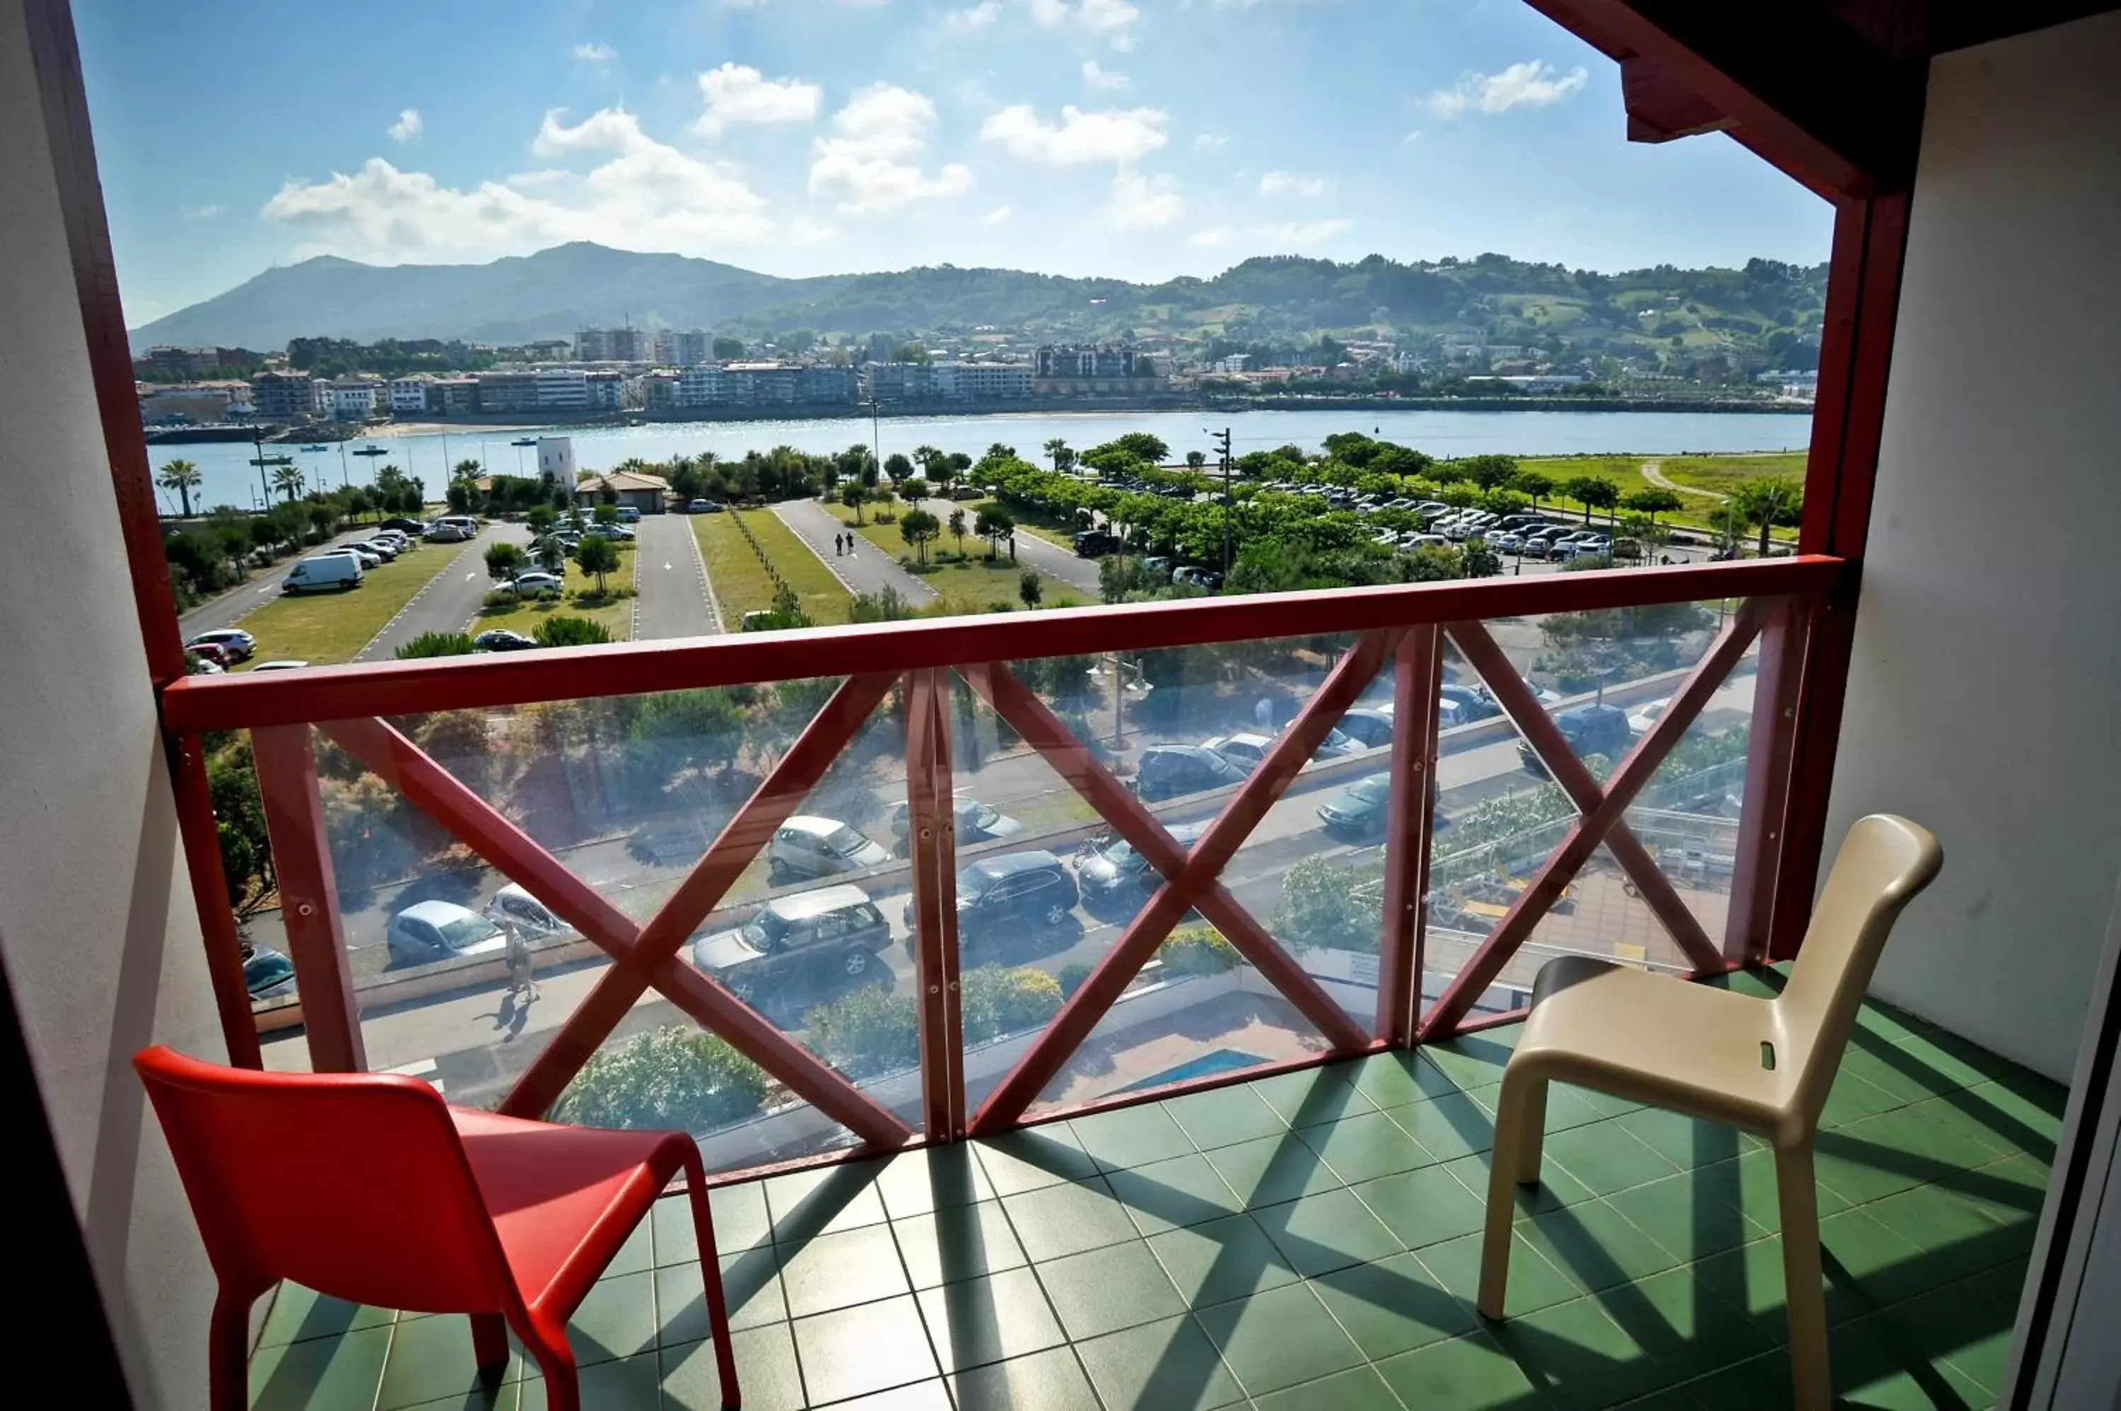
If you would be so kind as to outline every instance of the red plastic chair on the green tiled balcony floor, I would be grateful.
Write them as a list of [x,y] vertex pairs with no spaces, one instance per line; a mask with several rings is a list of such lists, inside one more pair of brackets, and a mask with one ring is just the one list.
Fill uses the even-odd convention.
[[452,1108],[395,1074],[257,1074],[144,1048],[155,1101],[221,1279],[212,1407],[248,1400],[250,1305],[278,1279],[373,1307],[471,1313],[479,1369],[513,1328],[554,1411],[579,1411],[566,1320],[679,1171],[691,1192],[723,1407],[738,1405],[730,1309],[700,1148]]

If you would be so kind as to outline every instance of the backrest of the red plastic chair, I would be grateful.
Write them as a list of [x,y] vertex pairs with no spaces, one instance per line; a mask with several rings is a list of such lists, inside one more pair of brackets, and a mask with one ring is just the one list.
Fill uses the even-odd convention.
[[505,1309],[513,1279],[450,1110],[392,1074],[259,1074],[144,1048],[134,1067],[223,1282]]

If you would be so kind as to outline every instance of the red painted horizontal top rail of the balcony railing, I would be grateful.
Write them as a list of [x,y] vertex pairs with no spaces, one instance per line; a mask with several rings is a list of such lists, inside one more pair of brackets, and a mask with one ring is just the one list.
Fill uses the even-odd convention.
[[[1041,656],[1101,656],[1646,603],[1826,592],[1839,579],[1841,564],[1830,558],[1769,558],[1075,607],[1039,613],[1035,647]],[[1022,622],[988,615],[738,632],[674,643],[187,677],[163,692],[163,711],[176,730],[240,730],[1005,662],[1022,656],[1024,645]]]

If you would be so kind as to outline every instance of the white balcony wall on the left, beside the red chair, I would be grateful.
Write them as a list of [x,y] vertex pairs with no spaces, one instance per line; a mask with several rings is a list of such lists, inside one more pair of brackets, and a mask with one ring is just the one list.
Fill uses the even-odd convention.
[[199,1407],[212,1273],[127,1059],[225,1052],[19,0],[0,132],[0,957],[134,1398]]

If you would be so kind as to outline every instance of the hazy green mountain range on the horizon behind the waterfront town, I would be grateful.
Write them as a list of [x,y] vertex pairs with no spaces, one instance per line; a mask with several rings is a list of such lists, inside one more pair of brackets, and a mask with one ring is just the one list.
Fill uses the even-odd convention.
[[522,344],[621,320],[736,335],[993,325],[1039,337],[1302,337],[1478,327],[1508,337],[1603,329],[1633,339],[1648,331],[1635,320],[1665,306],[1693,310],[1690,329],[1750,342],[1816,323],[1822,293],[1824,265],[1758,259],[1743,269],[1595,274],[1504,255],[1417,265],[1381,255],[1355,263],[1260,257],[1207,280],[1160,284],[954,265],[791,280],[711,259],[564,244],[484,265],[363,265],[320,255],[142,325],[132,344],[136,352],[153,344],[276,350],[291,337]]

